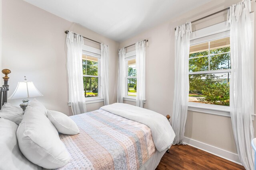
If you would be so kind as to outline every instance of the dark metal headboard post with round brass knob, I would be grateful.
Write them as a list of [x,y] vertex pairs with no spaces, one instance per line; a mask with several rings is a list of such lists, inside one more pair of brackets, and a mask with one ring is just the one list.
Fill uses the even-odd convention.
[[9,85],[8,85],[8,74],[11,73],[11,70],[9,69],[4,69],[2,70],[2,73],[5,75],[3,77],[4,79],[4,85],[2,87],[0,87],[0,109],[2,108],[2,106],[4,105],[4,103],[7,102],[7,92],[9,90]]

